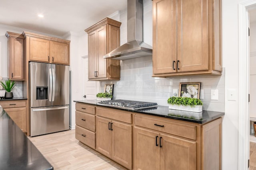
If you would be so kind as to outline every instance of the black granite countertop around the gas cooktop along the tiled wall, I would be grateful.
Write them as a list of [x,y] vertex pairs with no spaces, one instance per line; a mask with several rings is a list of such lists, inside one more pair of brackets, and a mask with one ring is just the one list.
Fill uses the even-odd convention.
[[[97,101],[97,100],[74,100],[74,102],[97,105],[97,103],[100,101]],[[97,105],[97,106],[100,106],[100,105]],[[166,118],[170,118],[170,119],[189,121],[189,122],[200,123],[200,124],[207,123],[208,121],[217,119],[225,114],[224,112],[206,111],[206,110],[203,110],[200,113],[190,112],[190,111],[173,110],[173,109],[169,109],[168,106],[158,106],[158,107],[153,107],[150,109],[141,109],[141,110],[127,110],[127,109],[116,108],[116,107],[112,107],[112,106],[102,106],[102,107],[111,107],[114,109],[132,111],[135,113],[142,113],[142,114],[147,114],[147,115],[166,117]]]

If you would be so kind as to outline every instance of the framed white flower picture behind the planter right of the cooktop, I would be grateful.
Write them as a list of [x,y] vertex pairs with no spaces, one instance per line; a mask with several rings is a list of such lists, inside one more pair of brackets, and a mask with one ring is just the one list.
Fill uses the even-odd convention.
[[200,97],[201,82],[198,83],[180,83],[179,97],[197,98]]

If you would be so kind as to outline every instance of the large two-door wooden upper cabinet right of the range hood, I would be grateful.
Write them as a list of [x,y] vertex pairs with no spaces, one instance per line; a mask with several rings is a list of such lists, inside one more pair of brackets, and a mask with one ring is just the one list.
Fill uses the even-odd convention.
[[222,72],[221,0],[153,0],[153,76]]

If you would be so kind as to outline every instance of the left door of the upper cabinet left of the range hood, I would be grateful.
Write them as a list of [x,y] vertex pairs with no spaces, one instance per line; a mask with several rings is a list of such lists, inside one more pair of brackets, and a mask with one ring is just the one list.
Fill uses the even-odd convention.
[[88,79],[96,78],[96,55],[96,31],[93,31],[88,34]]

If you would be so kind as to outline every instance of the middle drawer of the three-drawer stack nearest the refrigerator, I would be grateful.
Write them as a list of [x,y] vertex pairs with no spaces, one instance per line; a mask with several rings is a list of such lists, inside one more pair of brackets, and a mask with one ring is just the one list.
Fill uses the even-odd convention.
[[95,132],[95,115],[76,111],[76,125]]

